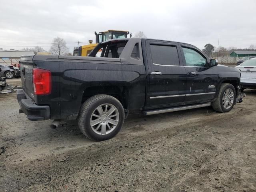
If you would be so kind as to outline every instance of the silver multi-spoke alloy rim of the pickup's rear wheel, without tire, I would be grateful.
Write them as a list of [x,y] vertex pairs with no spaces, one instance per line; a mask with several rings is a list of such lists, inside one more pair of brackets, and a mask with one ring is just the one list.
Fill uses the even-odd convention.
[[99,135],[106,135],[112,132],[119,121],[119,112],[112,104],[98,106],[90,118],[92,130]]

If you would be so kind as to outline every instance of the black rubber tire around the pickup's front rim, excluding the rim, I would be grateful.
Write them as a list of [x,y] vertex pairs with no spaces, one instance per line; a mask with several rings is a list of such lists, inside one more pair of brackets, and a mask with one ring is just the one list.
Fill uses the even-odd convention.
[[[233,101],[231,107],[226,109],[224,107],[224,105],[222,104],[222,97],[224,96],[224,92],[229,88],[232,89],[233,92],[234,92],[234,101]],[[221,84],[220,91],[219,91],[219,94],[218,94],[218,98],[214,102],[212,102],[212,108],[215,111],[225,113],[225,112],[229,112],[233,108],[235,103],[236,103],[236,89],[234,88],[234,86],[232,84],[229,84],[229,83]]]

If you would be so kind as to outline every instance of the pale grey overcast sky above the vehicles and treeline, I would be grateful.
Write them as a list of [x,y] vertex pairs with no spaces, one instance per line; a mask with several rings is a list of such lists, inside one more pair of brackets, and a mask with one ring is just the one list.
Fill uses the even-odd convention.
[[[70,52],[94,31],[143,31],[148,38],[248,48],[256,45],[256,0],[1,0],[0,48],[42,46],[54,37]],[[81,44],[80,44],[81,45]]]

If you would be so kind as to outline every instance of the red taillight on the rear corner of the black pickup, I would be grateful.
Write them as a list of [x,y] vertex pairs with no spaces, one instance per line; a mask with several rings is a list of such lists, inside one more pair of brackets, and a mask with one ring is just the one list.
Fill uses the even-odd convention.
[[33,86],[35,95],[47,95],[52,90],[52,74],[48,70],[33,68]]

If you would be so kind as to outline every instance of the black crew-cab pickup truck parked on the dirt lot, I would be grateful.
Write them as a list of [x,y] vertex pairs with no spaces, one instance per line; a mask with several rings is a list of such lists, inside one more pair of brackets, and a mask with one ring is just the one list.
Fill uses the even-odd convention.
[[228,112],[242,102],[239,70],[186,43],[124,38],[98,44],[88,57],[33,55],[20,61],[19,112],[29,120],[76,119],[96,141],[115,136],[128,113],[206,106]]

